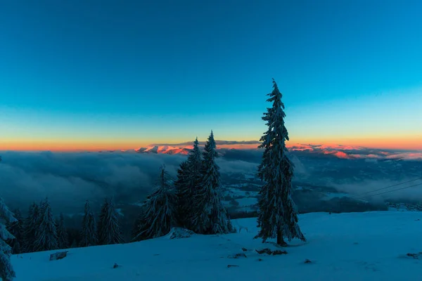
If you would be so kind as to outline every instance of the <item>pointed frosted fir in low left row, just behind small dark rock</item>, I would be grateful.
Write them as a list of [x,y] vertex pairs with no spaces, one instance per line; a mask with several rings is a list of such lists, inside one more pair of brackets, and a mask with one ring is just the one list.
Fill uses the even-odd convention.
[[51,206],[48,198],[41,202],[39,207],[39,221],[34,241],[36,251],[49,251],[58,249],[58,237],[56,222],[51,212]]

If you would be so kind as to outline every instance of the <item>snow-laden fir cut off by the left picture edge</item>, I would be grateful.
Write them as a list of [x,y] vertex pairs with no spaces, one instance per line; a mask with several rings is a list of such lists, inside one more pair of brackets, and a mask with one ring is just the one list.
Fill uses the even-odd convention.
[[4,281],[11,281],[16,277],[15,271],[11,264],[11,252],[12,248],[6,243],[8,240],[13,240],[13,235],[8,232],[3,221],[6,223],[13,223],[16,218],[13,213],[9,211],[6,204],[4,204],[3,198],[0,197],[0,278]]

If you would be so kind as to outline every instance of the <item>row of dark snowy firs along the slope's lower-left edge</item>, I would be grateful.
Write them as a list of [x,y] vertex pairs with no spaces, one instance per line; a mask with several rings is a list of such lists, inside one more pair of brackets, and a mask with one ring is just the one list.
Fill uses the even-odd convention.
[[13,235],[6,241],[12,254],[122,242],[119,214],[113,199],[104,201],[98,223],[87,201],[80,229],[66,228],[63,214],[54,218],[48,198],[39,204],[32,203],[26,218],[22,217],[20,209],[13,213],[16,221],[6,223],[6,229]]

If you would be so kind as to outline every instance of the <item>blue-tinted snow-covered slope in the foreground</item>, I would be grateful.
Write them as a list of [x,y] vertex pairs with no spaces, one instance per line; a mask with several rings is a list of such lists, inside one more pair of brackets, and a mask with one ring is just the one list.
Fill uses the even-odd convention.
[[[256,221],[246,218],[233,221],[241,229],[236,234],[167,236],[70,249],[59,261],[40,252],[13,256],[12,262],[15,281],[420,280],[422,256],[407,256],[422,251],[420,220],[422,212],[409,211],[303,214],[300,226],[308,241],[291,242],[288,254],[279,256],[255,252],[276,247],[254,240]],[[241,253],[247,257],[230,258]]]

